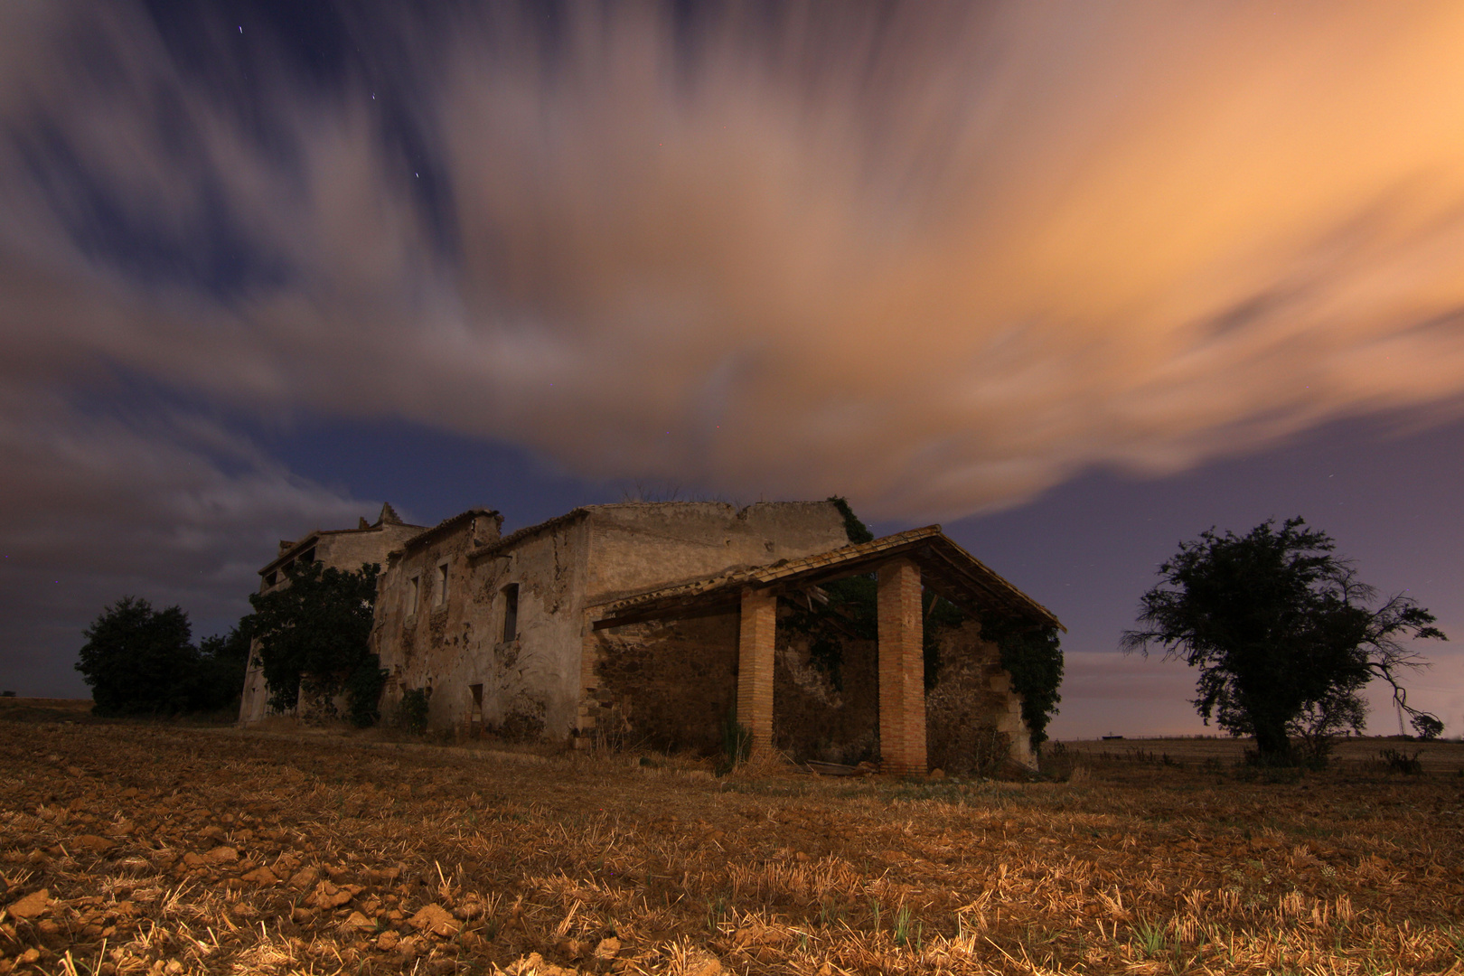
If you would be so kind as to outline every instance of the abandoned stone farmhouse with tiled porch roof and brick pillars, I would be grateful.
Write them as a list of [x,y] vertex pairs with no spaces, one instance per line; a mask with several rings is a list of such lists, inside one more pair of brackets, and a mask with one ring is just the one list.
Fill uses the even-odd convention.
[[[1057,619],[938,525],[859,544],[846,525],[833,502],[627,502],[502,536],[490,509],[422,528],[386,506],[373,525],[281,543],[261,590],[290,560],[379,562],[382,711],[420,689],[429,727],[460,736],[714,752],[735,723],[752,749],[896,773],[959,770],[981,740],[1032,764],[1020,699],[976,619]],[[842,631],[830,667],[807,623],[824,587],[859,575],[877,579],[877,634],[823,615]],[[925,588],[969,615],[940,632],[931,688]],[[265,697],[252,660],[243,721],[265,716]]]

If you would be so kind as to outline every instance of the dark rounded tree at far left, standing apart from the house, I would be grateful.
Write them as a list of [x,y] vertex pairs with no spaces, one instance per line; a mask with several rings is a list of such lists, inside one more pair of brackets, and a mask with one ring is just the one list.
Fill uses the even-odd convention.
[[[174,714],[187,711],[198,650],[193,628],[180,607],[154,610],[138,597],[102,609],[82,631],[76,670],[91,685],[98,716]],[[182,680],[180,680],[182,679]]]

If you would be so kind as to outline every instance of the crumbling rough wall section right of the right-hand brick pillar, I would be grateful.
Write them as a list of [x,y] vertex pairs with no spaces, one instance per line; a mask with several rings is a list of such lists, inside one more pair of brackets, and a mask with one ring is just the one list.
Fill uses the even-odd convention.
[[1022,698],[1001,667],[1001,651],[966,620],[940,635],[940,672],[925,695],[931,768],[950,774],[994,773],[1006,762],[1037,768],[1022,718]]

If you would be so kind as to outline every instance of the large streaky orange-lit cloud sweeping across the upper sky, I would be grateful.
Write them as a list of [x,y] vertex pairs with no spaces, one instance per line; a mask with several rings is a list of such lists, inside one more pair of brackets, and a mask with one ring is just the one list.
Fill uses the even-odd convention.
[[6,382],[881,517],[1460,402],[1457,4],[505,9],[322,80],[7,4]]

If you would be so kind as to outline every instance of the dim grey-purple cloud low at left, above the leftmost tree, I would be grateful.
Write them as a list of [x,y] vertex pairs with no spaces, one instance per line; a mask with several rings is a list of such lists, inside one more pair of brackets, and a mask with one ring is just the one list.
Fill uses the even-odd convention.
[[247,612],[281,527],[372,514],[196,414],[100,414],[34,386],[0,389],[0,675],[22,694],[75,691],[81,629],[120,596],[177,603],[203,637]]

